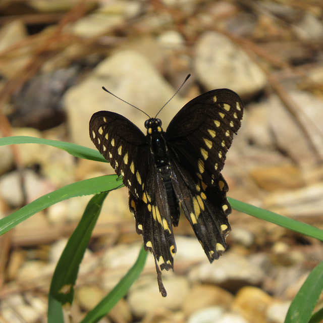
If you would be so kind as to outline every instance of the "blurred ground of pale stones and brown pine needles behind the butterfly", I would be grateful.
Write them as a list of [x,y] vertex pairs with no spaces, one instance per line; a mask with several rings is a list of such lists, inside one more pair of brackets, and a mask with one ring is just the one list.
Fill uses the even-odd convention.
[[[319,0],[2,0],[0,136],[95,148],[91,115],[118,112],[164,130],[181,107],[216,88],[246,104],[223,175],[229,196],[322,227],[323,3]],[[75,181],[114,174],[38,144],[0,147],[0,217]],[[22,184],[23,183],[23,184]],[[89,196],[35,214],[0,237],[0,322],[45,322],[50,278]],[[323,259],[321,243],[233,211],[224,255],[209,264],[188,221],[175,229],[175,273],[159,294],[153,257],[100,322],[284,321]],[[81,265],[75,322],[134,263],[142,244],[126,188],[113,191]]]

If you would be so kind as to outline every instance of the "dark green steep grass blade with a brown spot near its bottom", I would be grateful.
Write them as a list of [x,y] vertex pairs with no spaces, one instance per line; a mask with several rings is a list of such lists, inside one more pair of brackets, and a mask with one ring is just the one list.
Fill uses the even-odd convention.
[[[106,195],[107,192],[94,195],[88,202],[82,219],[72,233],[55,268],[49,289],[51,301],[48,302],[48,323],[57,322],[56,312],[58,304],[53,302],[53,299],[59,301],[62,305],[66,303],[72,304],[73,302],[74,285],[79,266]],[[50,308],[50,306],[55,306],[55,310]],[[54,312],[55,316],[52,315]]]

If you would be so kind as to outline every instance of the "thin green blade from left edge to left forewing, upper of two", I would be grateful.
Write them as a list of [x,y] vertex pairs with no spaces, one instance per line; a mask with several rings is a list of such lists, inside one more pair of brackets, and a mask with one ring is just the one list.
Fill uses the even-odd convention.
[[38,143],[38,144],[49,145],[49,146],[63,149],[75,157],[96,160],[96,161],[103,161],[104,163],[108,163],[108,161],[97,150],[91,149],[88,147],[83,147],[75,143],[28,137],[28,136],[13,136],[13,137],[0,138],[0,146],[21,144],[21,143]]

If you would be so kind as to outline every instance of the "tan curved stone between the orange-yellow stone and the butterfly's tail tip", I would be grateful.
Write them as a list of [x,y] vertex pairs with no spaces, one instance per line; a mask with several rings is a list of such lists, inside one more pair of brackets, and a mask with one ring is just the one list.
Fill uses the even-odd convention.
[[186,317],[209,307],[222,310],[229,309],[233,295],[225,289],[214,285],[196,285],[185,299],[183,312]]

